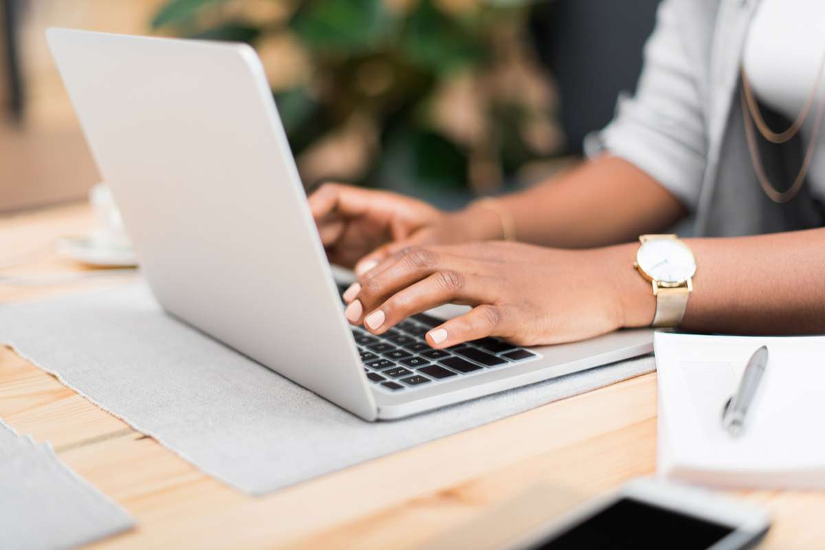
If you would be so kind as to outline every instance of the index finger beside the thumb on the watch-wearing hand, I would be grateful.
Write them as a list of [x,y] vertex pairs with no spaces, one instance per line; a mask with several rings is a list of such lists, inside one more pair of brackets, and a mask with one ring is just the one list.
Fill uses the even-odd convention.
[[[356,283],[357,284],[357,283]],[[375,310],[365,308],[364,327],[381,334],[410,315],[456,301],[474,301],[478,292],[456,271],[437,271],[429,277],[403,288],[381,303]]]

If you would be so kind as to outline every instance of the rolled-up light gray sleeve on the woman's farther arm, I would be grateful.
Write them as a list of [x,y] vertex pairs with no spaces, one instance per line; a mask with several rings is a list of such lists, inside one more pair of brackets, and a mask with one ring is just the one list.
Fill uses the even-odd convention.
[[707,157],[698,75],[707,68],[686,47],[678,1],[664,0],[658,9],[635,96],[620,96],[615,118],[587,137],[585,151],[631,162],[695,212]]

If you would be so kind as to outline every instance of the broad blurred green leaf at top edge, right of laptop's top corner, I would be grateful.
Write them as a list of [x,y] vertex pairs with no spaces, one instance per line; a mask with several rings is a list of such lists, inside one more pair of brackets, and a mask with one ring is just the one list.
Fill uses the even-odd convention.
[[290,26],[309,49],[356,54],[373,49],[394,30],[383,0],[314,0]]

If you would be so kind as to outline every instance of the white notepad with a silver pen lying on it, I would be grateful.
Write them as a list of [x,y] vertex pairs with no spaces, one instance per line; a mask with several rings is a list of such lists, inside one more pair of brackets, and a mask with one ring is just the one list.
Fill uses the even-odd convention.
[[[745,431],[722,408],[768,347]],[[825,489],[825,337],[656,333],[659,475],[716,487]]]

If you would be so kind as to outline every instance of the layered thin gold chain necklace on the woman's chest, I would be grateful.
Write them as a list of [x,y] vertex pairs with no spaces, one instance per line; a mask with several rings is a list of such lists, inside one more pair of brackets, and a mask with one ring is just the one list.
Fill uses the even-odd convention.
[[759,180],[762,190],[775,203],[787,203],[790,199],[796,196],[796,193],[799,193],[799,189],[802,189],[805,176],[808,175],[808,169],[810,168],[811,161],[813,160],[813,151],[816,148],[816,142],[819,136],[819,127],[822,125],[823,114],[825,114],[825,109],[823,109],[823,107],[825,107],[825,96],[820,97],[817,105],[816,120],[813,125],[813,133],[811,133],[811,142],[808,144],[807,151],[805,151],[802,167],[799,169],[799,173],[796,175],[794,183],[791,184],[790,188],[785,189],[785,191],[777,191],[765,173],[765,168],[762,166],[761,156],[759,155],[757,138],[753,132],[753,125],[756,124],[762,137],[772,143],[785,143],[799,133],[805,119],[808,118],[808,113],[813,106],[813,100],[817,96],[819,81],[822,79],[823,75],[823,68],[825,68],[825,55],[823,55],[822,61],[819,62],[817,79],[813,82],[813,90],[808,96],[808,99],[805,100],[802,111],[799,113],[796,120],[794,120],[793,124],[780,133],[775,133],[771,130],[771,128],[768,128],[768,125],[759,110],[759,105],[757,105],[757,100],[753,96],[751,83],[747,79],[745,68],[744,66],[741,68],[742,89],[739,92],[739,96],[742,104],[742,119],[744,119],[745,123],[747,148],[751,154],[751,164],[753,165],[753,171],[757,174],[757,179]]

